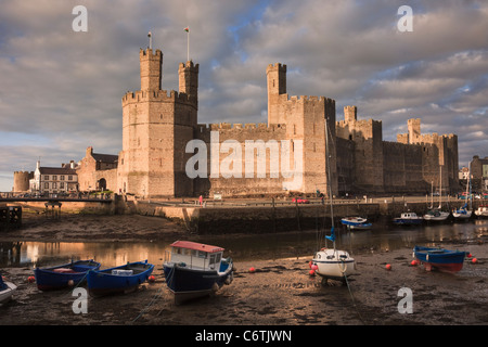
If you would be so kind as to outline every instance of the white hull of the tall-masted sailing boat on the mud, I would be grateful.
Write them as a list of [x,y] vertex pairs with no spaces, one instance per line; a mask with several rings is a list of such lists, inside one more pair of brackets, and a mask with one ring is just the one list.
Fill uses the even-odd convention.
[[317,266],[316,273],[332,280],[345,280],[356,273],[356,261],[345,250],[322,249],[316,253],[312,266]]

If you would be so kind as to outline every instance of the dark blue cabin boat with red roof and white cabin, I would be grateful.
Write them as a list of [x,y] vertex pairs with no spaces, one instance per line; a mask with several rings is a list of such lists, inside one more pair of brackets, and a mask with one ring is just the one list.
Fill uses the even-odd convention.
[[233,280],[233,262],[223,248],[192,241],[176,241],[163,264],[166,285],[177,305],[208,296]]

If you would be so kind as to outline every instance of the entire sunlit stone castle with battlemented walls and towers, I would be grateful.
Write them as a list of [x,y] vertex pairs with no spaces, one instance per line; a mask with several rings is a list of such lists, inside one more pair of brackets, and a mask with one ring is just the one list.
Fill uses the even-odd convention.
[[277,63],[266,69],[267,124],[203,125],[198,64],[181,63],[179,91],[167,91],[162,51],[141,49],[139,57],[141,90],[121,99],[123,150],[111,156],[89,147],[77,168],[81,191],[156,198],[314,194],[329,184],[333,194],[458,190],[458,137],[422,134],[420,119],[409,119],[397,142],[383,141],[382,121],[359,120],[356,106],[336,121],[335,100],[288,95],[286,65]]

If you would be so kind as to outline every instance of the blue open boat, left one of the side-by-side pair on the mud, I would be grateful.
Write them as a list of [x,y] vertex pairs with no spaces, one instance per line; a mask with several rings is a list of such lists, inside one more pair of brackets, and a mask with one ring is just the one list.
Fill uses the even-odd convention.
[[36,268],[34,275],[40,291],[62,290],[76,286],[86,281],[90,270],[100,268],[100,262],[90,260],[76,260],[50,268]]

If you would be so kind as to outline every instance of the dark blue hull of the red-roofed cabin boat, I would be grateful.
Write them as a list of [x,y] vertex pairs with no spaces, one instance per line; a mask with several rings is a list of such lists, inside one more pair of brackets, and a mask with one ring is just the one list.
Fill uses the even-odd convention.
[[164,264],[164,272],[168,288],[175,294],[175,303],[207,296],[217,292],[223,284],[233,280],[232,261],[226,265],[223,271],[189,268],[181,264]]

